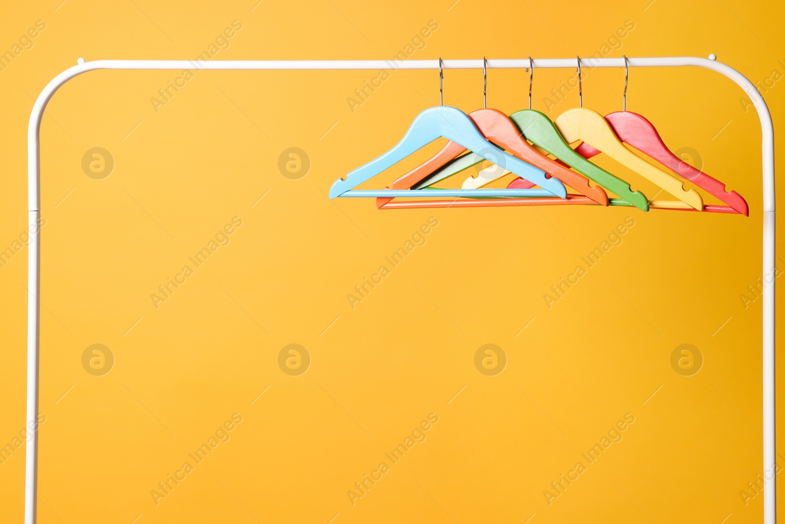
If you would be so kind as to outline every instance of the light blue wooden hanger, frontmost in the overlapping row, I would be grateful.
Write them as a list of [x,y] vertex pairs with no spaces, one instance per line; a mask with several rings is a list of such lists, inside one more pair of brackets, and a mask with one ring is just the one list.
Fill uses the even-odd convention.
[[[542,189],[545,189],[546,196],[555,195],[560,196],[561,198],[567,198],[567,189],[564,189],[564,185],[560,181],[556,178],[546,178],[545,171],[509,155],[491,144],[491,142],[487,141],[485,137],[480,134],[480,131],[477,130],[466,113],[462,112],[460,109],[451,108],[447,105],[428,108],[417,115],[417,118],[411,123],[409,130],[403,135],[403,138],[395,147],[388,152],[385,152],[382,156],[371,160],[371,162],[364,166],[353,170],[346,175],[345,179],[339,178],[334,181],[330,188],[330,198],[332,199],[336,196],[353,196],[350,194],[352,193],[352,191],[350,191],[352,188],[373,178],[383,170],[400,162],[400,160],[406,158],[425,145],[430,144],[439,137],[454,141],[493,163],[503,163],[507,170],[517,174],[520,178],[532,181]],[[483,191],[484,196],[520,197],[542,196],[542,189],[481,189],[481,191]],[[456,191],[466,192],[465,189]],[[528,191],[530,193],[521,194],[522,191]],[[410,193],[410,196],[415,196],[414,194],[411,194],[411,191],[407,192]],[[364,194],[362,196],[392,196],[392,194],[390,194],[389,190],[385,190],[383,194],[376,195],[374,193],[374,195]],[[434,195],[433,192],[429,192],[428,195],[423,196],[436,195]]]

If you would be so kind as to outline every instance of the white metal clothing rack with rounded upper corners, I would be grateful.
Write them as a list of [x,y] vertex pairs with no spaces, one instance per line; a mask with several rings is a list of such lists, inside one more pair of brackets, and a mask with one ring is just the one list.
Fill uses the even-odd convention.
[[[55,91],[76,75],[95,69],[212,69],[212,70],[349,70],[349,69],[435,69],[440,68],[440,60],[407,60],[394,63],[387,60],[215,60],[193,62],[188,60],[96,60],[68,68],[57,75],[38,95],[30,115],[27,128],[27,199],[29,202],[29,222],[37,224],[41,215],[40,207],[40,160],[39,130],[47,102]],[[534,68],[575,68],[575,58],[536,59]],[[481,69],[529,67],[529,59],[522,60],[444,60],[444,69]],[[590,68],[623,68],[623,58],[584,58],[582,66]],[[739,84],[753,102],[761,119],[763,138],[763,275],[768,285],[763,291],[763,471],[764,522],[776,522],[776,473],[775,473],[775,412],[774,412],[774,280],[775,280],[775,193],[774,193],[774,128],[769,108],[744,75],[716,60],[698,57],[654,57],[629,58],[626,65],[630,68],[651,68],[670,66],[696,66],[717,71]],[[39,280],[41,273],[40,231],[30,231],[30,256],[28,259],[27,281],[30,293],[27,297],[27,428],[24,497],[24,522],[35,524],[38,473],[38,350],[40,318],[38,307]],[[771,282],[767,282],[767,278]]]

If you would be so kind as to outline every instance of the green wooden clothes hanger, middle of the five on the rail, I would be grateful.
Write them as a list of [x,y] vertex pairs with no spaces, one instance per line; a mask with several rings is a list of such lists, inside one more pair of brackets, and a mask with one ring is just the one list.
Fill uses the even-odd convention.
[[[539,146],[555,156],[557,159],[566,163],[579,173],[590,178],[597,184],[603,186],[616,195],[622,197],[622,200],[612,199],[612,205],[625,205],[631,203],[633,206],[640,208],[643,211],[648,211],[648,199],[640,191],[631,191],[630,184],[623,181],[621,178],[608,173],[589,160],[586,160],[564,141],[556,125],[550,119],[539,111],[534,109],[523,109],[509,115],[509,118],[518,126],[518,129],[524,134],[524,138],[531,141],[534,145]],[[484,160],[482,156],[475,153],[468,155],[458,156],[457,159],[452,160],[450,163],[444,165],[433,174],[424,178],[418,185],[414,185],[412,189],[422,189],[426,185],[436,184],[436,182],[444,180],[459,171],[465,170],[468,167],[480,163]]]

